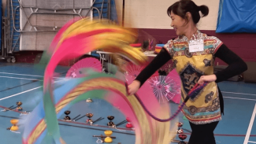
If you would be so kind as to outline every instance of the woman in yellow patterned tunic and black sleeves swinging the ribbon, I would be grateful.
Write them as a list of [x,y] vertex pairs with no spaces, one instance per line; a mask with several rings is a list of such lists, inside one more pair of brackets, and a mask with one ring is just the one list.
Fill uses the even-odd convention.
[[[247,65],[220,39],[198,31],[199,11],[202,17],[209,13],[207,6],[196,6],[191,0],[180,0],[169,7],[167,13],[172,18],[171,26],[178,37],[167,42],[158,56],[128,86],[128,91],[135,94],[158,68],[172,59],[182,82],[182,101],[196,83],[209,82],[195,98],[187,101],[183,109],[192,130],[189,144],[215,144],[213,131],[224,112],[217,83],[246,71]],[[228,67],[213,73],[215,57],[226,62]]]

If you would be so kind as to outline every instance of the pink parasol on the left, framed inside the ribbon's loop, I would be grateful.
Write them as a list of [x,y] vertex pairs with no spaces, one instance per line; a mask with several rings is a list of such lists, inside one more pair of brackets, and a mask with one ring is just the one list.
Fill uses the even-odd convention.
[[93,68],[96,72],[102,72],[102,64],[97,58],[87,57],[76,62],[69,68],[66,74],[67,78],[80,78],[84,76],[83,68]]

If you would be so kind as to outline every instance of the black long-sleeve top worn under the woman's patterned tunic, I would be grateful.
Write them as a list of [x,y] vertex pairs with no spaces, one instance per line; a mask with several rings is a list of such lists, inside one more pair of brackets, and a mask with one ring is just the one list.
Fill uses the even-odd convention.
[[[228,47],[224,44],[220,46],[216,54],[214,54],[214,57],[218,57],[228,64],[227,68],[224,68],[220,72],[214,73],[217,77],[215,81],[216,83],[232,78],[233,76],[237,76],[247,70],[247,64],[239,56],[233,53],[232,50],[229,50]],[[145,83],[146,80],[154,74],[154,72],[161,68],[161,66],[165,65],[165,63],[170,59],[172,59],[172,57],[169,52],[165,48],[162,48],[157,57],[154,57],[154,60],[151,61],[150,64],[147,65],[147,67],[139,73],[139,76],[137,76],[135,80],[138,80],[140,82],[140,86],[142,86],[143,83]],[[220,97],[221,113],[224,113],[223,97],[219,88],[218,91]]]

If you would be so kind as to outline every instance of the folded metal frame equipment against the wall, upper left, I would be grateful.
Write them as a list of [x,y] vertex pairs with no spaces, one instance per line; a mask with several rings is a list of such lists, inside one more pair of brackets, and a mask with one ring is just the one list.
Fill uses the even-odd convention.
[[[96,2],[97,1],[97,2]],[[102,1],[102,2],[100,2]],[[94,10],[98,13],[98,18],[103,18],[102,13],[107,14],[107,19],[110,19],[110,0],[91,0],[90,7],[80,7],[80,8],[73,8],[73,9],[43,9],[39,7],[30,7],[30,6],[23,6],[20,0],[7,0],[7,10],[6,15],[2,17],[2,54],[0,59],[6,59],[8,62],[15,62],[15,57],[13,57],[13,50],[17,46],[19,46],[20,36],[23,35],[24,32],[45,32],[45,31],[53,31],[56,32],[60,28],[58,27],[49,27],[49,26],[39,26],[36,24],[32,24],[32,16],[33,15],[72,15],[78,16],[81,19],[83,17],[87,17],[88,14]],[[105,4],[105,5],[104,5]],[[107,7],[106,7],[107,4]],[[95,6],[101,5],[101,6]],[[103,9],[107,8],[107,11],[104,12]],[[25,9],[30,9],[30,13],[27,16],[25,13]],[[88,12],[85,15],[82,15],[81,12],[83,9],[88,9]],[[25,16],[25,24],[22,28],[20,28],[20,17],[17,18],[18,13],[22,12]],[[69,11],[69,12],[67,12]],[[18,22],[17,22],[18,21]],[[29,30],[25,30],[25,26],[29,27]]]

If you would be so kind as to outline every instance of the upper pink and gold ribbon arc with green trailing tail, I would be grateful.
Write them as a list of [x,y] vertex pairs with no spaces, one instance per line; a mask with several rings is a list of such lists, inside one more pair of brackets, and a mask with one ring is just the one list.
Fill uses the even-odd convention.
[[55,121],[55,124],[50,124],[48,129],[50,133],[54,133],[55,142],[59,141],[60,134],[56,122],[57,118],[52,111],[54,109],[54,96],[51,93],[53,91],[54,69],[60,61],[80,57],[97,49],[123,54],[136,64],[143,64],[147,61],[147,57],[142,52],[129,46],[129,43],[135,41],[135,33],[117,25],[109,25],[106,20],[77,20],[61,32],[63,32],[62,35],[58,35],[59,37],[53,41],[53,43],[58,44],[46,66],[43,81],[43,103],[47,113],[46,121]]

